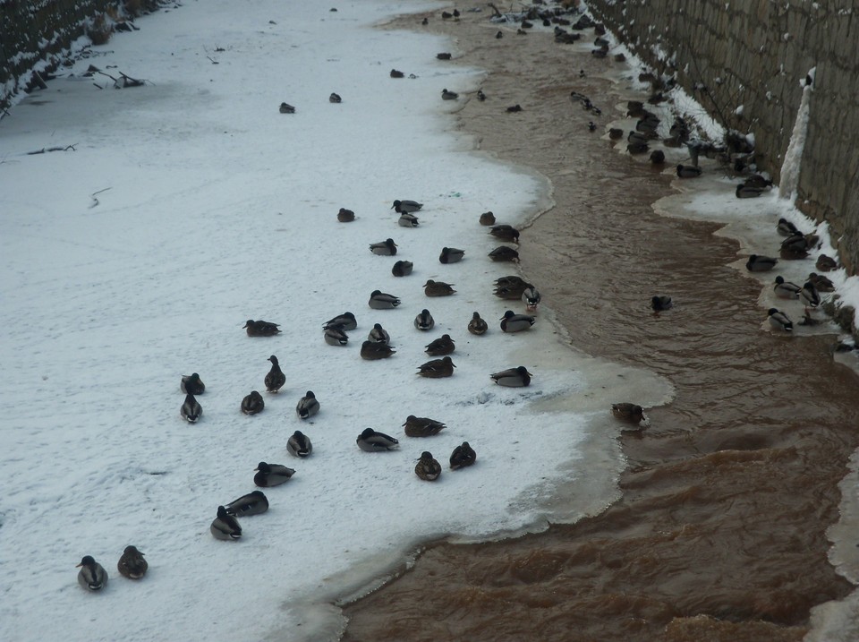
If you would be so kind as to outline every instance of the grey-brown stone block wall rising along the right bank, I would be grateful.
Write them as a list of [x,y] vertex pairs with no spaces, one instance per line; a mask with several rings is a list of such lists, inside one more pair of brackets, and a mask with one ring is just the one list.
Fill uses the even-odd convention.
[[[594,16],[729,128],[753,133],[778,182],[806,74],[816,69],[797,206],[859,270],[859,9],[852,0],[591,0]],[[741,107],[742,109],[737,109]],[[739,113],[737,113],[739,112]]]

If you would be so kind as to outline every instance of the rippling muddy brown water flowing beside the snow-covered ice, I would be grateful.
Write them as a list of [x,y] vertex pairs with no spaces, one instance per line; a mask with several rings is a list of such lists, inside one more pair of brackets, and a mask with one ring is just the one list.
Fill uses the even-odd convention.
[[[643,435],[619,438],[623,494],[603,513],[498,543],[428,544],[344,609],[343,639],[802,639],[812,606],[853,587],[829,565],[825,535],[859,446],[857,380],[833,363],[835,337],[761,330],[759,284],[727,267],[738,244],[654,214],[669,177],[601,135],[635,97],[602,77],[617,63],[549,33],[495,39],[488,12],[421,18],[391,26],[446,33],[459,62],[489,72],[487,100],[472,95],[458,126],[554,184],[556,206],[523,231],[524,276],[574,346],[659,373],[676,398]],[[523,111],[507,114],[513,104]],[[675,309],[652,314],[657,293]]]

